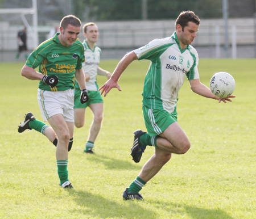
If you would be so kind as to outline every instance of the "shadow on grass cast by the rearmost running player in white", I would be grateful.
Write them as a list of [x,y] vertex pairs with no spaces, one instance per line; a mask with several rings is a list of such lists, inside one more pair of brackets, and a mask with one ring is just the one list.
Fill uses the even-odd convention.
[[120,159],[106,157],[104,155],[97,154],[87,154],[86,157],[91,162],[103,163],[108,169],[117,169],[117,170],[141,170],[141,166],[131,164],[128,161],[121,161]]

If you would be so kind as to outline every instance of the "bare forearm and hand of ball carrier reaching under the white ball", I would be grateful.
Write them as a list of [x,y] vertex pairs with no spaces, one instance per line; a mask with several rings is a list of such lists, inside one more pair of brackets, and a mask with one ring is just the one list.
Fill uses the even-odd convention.
[[199,94],[201,96],[205,96],[206,98],[212,98],[218,100],[220,103],[223,101],[226,103],[227,101],[232,102],[232,99],[230,98],[235,98],[236,96],[230,95],[226,98],[218,98],[217,96],[214,96],[212,92],[210,91],[209,87],[205,86],[203,83],[200,82],[200,79],[192,79],[189,80],[190,88],[193,92],[196,94]]

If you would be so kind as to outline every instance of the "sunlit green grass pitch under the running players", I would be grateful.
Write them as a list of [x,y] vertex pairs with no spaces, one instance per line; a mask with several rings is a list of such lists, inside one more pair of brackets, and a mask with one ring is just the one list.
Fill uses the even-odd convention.
[[[113,71],[115,61],[101,61]],[[92,121],[75,128],[69,153],[69,179],[76,191],[62,189],[56,171],[55,146],[32,130],[17,132],[28,111],[42,120],[36,99],[38,82],[20,76],[23,63],[0,64],[0,218],[255,218],[256,97],[254,59],[200,60],[201,82],[209,86],[217,71],[236,80],[232,103],[181,88],[179,124],[191,140],[184,155],[170,162],[142,189],[144,201],[123,201],[122,192],[154,153],[148,147],[140,163],[131,160],[133,131],[145,129],[143,79],[148,61],[135,61],[122,75],[122,91],[104,98],[104,123],[96,154],[84,154]],[[98,77],[102,85],[105,77]]]

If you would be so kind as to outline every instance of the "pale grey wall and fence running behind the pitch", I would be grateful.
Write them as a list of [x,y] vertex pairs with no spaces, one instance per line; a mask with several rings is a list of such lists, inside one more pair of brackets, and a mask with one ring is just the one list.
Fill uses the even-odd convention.
[[[85,23],[85,22],[83,22]],[[54,26],[56,24],[53,24]],[[98,22],[97,45],[102,49],[102,59],[119,59],[126,52],[146,45],[155,38],[171,36],[175,20]],[[0,61],[14,61],[18,50],[16,36],[22,27],[0,23]],[[52,26],[38,27],[39,43],[47,39]],[[224,49],[225,31],[222,19],[201,21],[193,47],[201,58],[254,58],[256,57],[256,22],[251,19],[230,19],[229,48]],[[28,30],[28,50],[32,51],[32,30]],[[84,40],[80,33],[79,38]],[[22,58],[22,57],[21,57]],[[21,59],[22,60],[22,59]]]

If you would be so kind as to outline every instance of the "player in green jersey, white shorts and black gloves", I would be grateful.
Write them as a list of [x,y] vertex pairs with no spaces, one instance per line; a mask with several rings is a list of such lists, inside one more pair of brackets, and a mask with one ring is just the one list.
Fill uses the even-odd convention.
[[[44,41],[28,57],[21,74],[38,80],[38,103],[44,121],[36,120],[29,112],[20,123],[18,132],[35,129],[56,146],[57,172],[60,186],[73,188],[68,179],[68,151],[73,144],[74,77],[80,86],[80,102],[88,101],[82,62],[84,47],[77,39],[81,22],[76,16],[65,16],[60,22],[60,33]],[[39,66],[39,72],[35,70]]]

